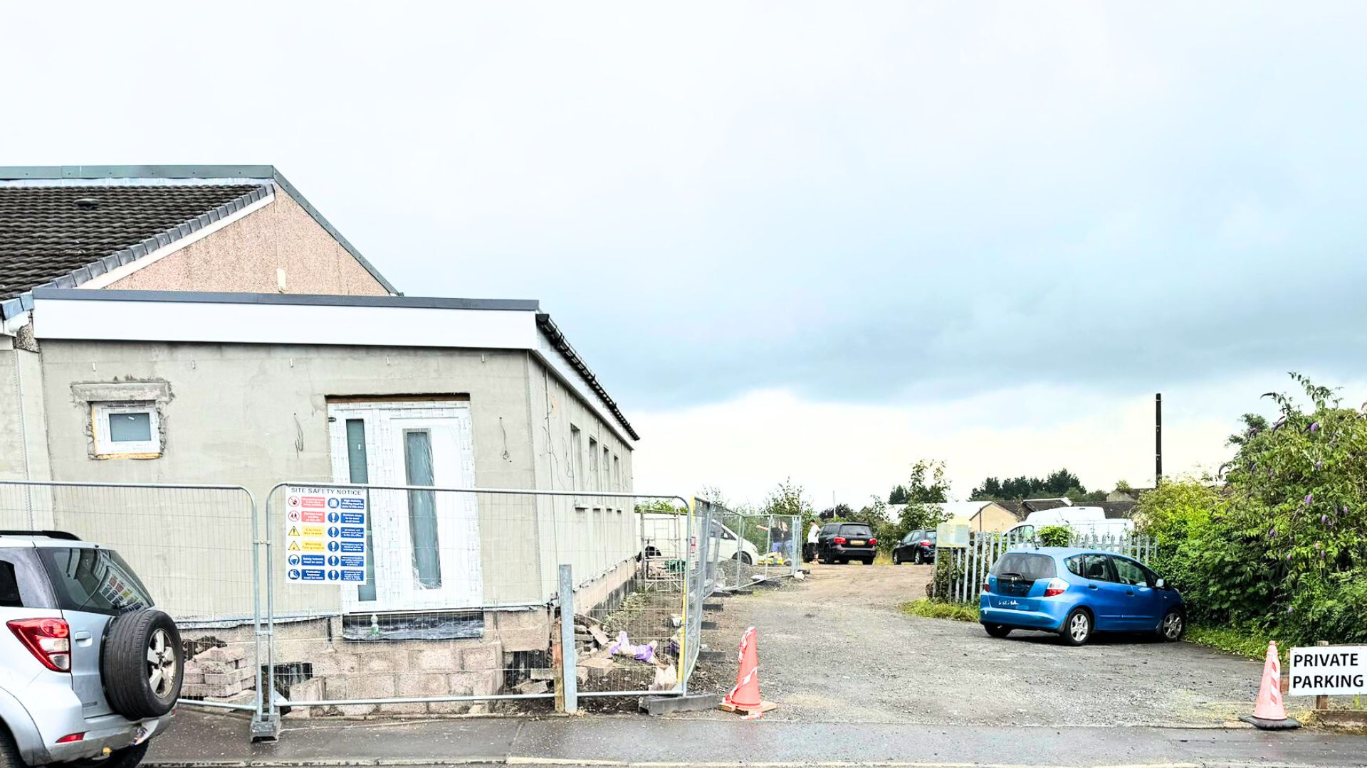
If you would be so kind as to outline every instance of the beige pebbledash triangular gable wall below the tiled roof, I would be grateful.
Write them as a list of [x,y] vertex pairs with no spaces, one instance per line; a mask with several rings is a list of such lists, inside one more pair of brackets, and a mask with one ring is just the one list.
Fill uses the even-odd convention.
[[120,291],[388,295],[361,262],[279,186],[275,201],[107,286]]

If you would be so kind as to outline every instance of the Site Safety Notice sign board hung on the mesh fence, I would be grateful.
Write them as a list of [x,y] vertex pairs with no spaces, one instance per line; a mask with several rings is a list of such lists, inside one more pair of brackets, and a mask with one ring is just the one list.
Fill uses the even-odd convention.
[[284,581],[365,584],[366,491],[306,485],[284,491]]

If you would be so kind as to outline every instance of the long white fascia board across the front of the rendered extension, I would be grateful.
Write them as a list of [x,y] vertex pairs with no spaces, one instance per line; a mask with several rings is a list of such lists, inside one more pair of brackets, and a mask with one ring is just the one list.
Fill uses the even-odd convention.
[[204,342],[536,350],[536,312],[424,306],[82,301],[38,298],[34,336],[92,342]]

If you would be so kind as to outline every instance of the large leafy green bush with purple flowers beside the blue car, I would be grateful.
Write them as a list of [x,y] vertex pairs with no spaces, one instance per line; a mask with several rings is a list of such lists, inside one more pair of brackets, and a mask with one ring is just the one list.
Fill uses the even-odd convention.
[[1367,415],[1293,374],[1310,398],[1269,392],[1271,424],[1244,417],[1223,482],[1167,481],[1136,522],[1197,622],[1289,642],[1367,640]]

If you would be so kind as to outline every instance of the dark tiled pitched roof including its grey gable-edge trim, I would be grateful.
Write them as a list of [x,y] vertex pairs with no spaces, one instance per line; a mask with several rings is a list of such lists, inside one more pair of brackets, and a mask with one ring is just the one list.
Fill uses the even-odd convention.
[[273,165],[0,167],[0,318],[33,309],[36,287],[74,288],[276,187],[398,292]]

